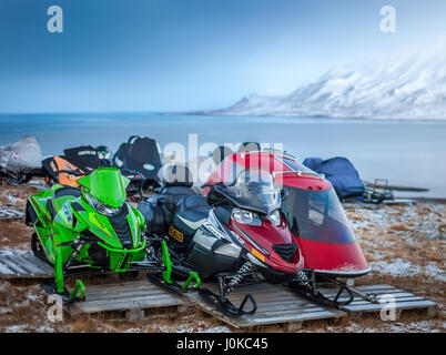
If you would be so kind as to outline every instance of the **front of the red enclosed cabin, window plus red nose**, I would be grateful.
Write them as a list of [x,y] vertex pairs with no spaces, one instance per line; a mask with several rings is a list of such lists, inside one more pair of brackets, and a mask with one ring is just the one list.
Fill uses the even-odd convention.
[[285,185],[288,196],[282,210],[305,267],[346,276],[367,273],[367,262],[334,189],[302,186]]

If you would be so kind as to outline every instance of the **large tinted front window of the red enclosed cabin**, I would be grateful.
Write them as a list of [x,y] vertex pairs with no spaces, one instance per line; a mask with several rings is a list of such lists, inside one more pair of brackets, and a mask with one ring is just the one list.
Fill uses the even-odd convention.
[[283,201],[282,211],[294,235],[330,244],[356,242],[333,187],[324,191],[286,189],[288,196]]

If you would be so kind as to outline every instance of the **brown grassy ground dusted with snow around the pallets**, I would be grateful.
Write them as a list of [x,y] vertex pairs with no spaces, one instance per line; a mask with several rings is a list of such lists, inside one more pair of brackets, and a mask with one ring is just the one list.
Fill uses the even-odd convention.
[[[32,186],[0,185],[0,206],[23,210]],[[403,313],[398,322],[383,322],[378,315],[304,323],[300,332],[442,332],[446,331],[446,204],[374,206],[347,205],[346,214],[356,232],[373,272],[357,285],[392,284],[438,303],[438,315]],[[0,221],[0,250],[29,250],[32,229],[23,221]],[[64,315],[48,320],[47,294],[33,281],[0,281],[0,332],[215,332],[233,329],[197,310],[154,312],[149,320],[126,323],[104,315]],[[281,326],[260,332],[283,332]]]

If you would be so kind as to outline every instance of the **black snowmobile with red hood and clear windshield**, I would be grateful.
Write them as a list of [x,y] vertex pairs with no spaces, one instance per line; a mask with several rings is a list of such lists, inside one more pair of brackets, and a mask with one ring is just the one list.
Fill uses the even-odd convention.
[[[239,307],[229,294],[250,282],[286,284],[304,265],[281,213],[281,191],[263,170],[244,171],[230,185],[210,185],[207,197],[191,187],[186,166],[164,168],[162,187],[138,205],[148,235],[166,236],[174,272],[193,270],[202,280],[217,278],[219,294],[199,291],[205,301],[230,316],[254,314],[250,294]],[[163,283],[158,275],[148,277]]]

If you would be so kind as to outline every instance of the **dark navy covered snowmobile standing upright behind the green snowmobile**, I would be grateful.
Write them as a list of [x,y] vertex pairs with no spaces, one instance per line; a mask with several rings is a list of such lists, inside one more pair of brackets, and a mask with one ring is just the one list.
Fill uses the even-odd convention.
[[132,135],[114,153],[112,165],[138,172],[144,179],[144,190],[160,185],[158,172],[162,163],[156,141],[151,138]]

